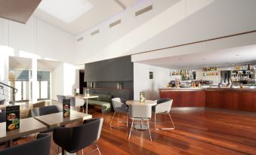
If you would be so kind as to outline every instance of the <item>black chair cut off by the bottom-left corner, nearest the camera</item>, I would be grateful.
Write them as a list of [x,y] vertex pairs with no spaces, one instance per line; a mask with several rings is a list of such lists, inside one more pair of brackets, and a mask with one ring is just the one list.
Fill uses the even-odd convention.
[[1,155],[26,154],[26,155],[49,155],[51,147],[51,135],[39,134],[35,141],[20,144],[14,147],[0,150]]

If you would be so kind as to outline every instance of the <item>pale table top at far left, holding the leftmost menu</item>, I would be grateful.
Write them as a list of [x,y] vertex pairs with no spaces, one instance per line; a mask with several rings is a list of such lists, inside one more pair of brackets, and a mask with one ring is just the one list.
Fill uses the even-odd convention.
[[43,123],[35,120],[33,117],[20,119],[20,129],[14,129],[6,132],[6,123],[0,123],[0,142],[8,141],[14,138],[23,137],[36,132],[42,132],[48,129]]

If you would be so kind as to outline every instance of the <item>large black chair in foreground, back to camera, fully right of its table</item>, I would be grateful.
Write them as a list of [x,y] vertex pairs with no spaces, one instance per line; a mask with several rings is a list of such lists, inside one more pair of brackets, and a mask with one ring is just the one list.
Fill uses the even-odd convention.
[[97,148],[94,150],[100,153],[97,140],[100,138],[102,124],[103,118],[93,118],[85,120],[81,126],[55,128],[54,142],[69,153],[78,153],[79,150],[96,144]]

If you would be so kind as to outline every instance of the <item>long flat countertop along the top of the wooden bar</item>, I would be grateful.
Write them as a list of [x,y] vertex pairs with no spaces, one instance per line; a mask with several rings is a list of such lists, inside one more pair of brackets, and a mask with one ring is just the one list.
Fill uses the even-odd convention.
[[161,88],[159,91],[250,91],[256,92],[256,89],[248,89],[248,88]]

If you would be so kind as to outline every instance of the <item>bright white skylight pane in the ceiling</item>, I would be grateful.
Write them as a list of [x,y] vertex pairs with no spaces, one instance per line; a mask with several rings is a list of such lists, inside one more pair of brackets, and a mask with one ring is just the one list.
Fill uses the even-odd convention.
[[65,23],[72,23],[93,8],[88,0],[43,0],[39,9]]

